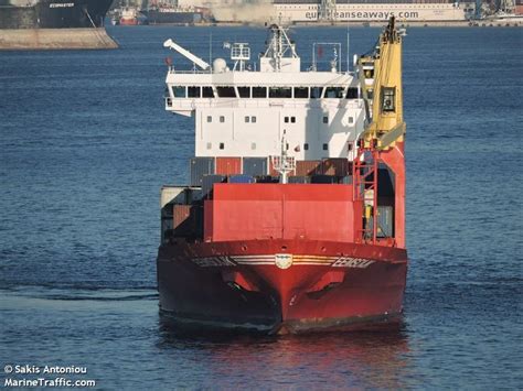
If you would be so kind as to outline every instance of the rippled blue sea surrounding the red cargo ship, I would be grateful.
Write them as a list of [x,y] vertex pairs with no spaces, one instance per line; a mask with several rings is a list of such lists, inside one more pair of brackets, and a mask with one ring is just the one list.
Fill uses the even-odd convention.
[[[156,293],[159,188],[193,151],[163,110],[162,42],[207,58],[211,41],[258,53],[265,31],[110,33],[120,50],[0,53],[1,368],[84,366],[103,389],[523,388],[521,29],[408,31],[403,326],[279,338],[177,334]],[[293,37],[309,64],[345,33]],[[351,52],[376,34],[351,30]]]

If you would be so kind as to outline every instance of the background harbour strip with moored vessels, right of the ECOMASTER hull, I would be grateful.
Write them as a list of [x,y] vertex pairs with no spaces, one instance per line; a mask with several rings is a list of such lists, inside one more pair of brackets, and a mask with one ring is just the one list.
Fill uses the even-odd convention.
[[122,25],[385,25],[395,17],[410,26],[521,26],[521,0],[120,0],[111,23]]

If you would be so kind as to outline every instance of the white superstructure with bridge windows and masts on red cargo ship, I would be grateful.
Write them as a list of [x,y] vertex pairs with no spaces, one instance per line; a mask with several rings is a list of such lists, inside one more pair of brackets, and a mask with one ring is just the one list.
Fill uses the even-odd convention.
[[212,67],[171,40],[164,46],[194,64],[189,72],[170,66],[166,109],[194,117],[196,156],[279,155],[284,134],[296,160],[352,155],[367,110],[357,77],[340,68],[341,47],[332,46],[331,69],[318,72],[314,64],[301,70],[295,45],[277,25],[256,65],[246,43],[231,46],[234,64],[216,58]]

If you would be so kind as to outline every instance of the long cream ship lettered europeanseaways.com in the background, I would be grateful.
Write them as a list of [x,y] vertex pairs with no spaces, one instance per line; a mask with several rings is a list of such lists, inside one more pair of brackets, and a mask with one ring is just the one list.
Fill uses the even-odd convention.
[[216,22],[369,23],[395,17],[397,22],[453,22],[474,17],[474,1],[455,0],[179,0],[209,4]]

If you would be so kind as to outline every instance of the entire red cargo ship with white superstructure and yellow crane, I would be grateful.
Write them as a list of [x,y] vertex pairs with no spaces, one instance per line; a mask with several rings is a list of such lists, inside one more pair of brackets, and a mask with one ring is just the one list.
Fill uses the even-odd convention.
[[195,156],[188,184],[161,189],[161,313],[267,334],[399,321],[408,260],[394,18],[354,70],[335,43],[314,43],[332,58],[302,70],[276,24],[255,64],[247,43],[212,65],[164,46],[193,64],[167,61],[166,110],[194,118]]

